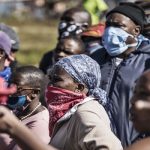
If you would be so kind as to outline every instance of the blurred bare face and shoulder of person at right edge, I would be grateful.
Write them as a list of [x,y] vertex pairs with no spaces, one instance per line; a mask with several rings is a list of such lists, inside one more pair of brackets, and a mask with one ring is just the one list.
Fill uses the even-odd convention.
[[[150,71],[146,71],[138,80],[131,100],[131,120],[136,130],[150,132]],[[144,138],[132,144],[126,150],[149,150],[150,138]]]

